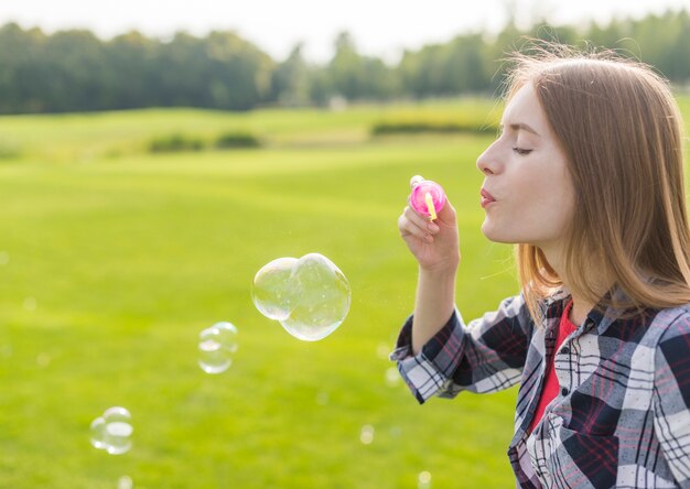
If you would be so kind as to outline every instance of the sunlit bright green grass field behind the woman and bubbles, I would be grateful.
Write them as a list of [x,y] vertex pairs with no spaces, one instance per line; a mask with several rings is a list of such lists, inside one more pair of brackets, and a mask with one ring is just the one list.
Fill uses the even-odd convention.
[[[422,471],[436,489],[511,487],[515,389],[419,406],[386,380],[413,304],[396,226],[411,175],[441,182],[459,210],[463,315],[517,291],[511,250],[479,232],[475,160],[492,138],[367,132],[381,118],[467,115],[499,116],[460,100],[0,118],[0,487],[116,488],[129,476],[136,488],[413,489]],[[174,131],[238,129],[266,146],[142,150]],[[317,343],[250,300],[259,268],[309,252],[352,286],[347,319]],[[238,327],[239,351],[209,376],[197,337],[218,320]],[[89,444],[114,405],[134,428],[119,456]]]

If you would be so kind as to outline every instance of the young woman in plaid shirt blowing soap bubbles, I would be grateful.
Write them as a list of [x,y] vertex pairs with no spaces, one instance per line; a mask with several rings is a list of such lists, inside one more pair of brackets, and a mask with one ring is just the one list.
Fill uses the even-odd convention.
[[649,68],[557,47],[516,56],[477,160],[482,231],[516,243],[521,293],[465,325],[455,210],[406,208],[419,282],[391,357],[420,403],[520,384],[519,487],[690,487],[682,120]]

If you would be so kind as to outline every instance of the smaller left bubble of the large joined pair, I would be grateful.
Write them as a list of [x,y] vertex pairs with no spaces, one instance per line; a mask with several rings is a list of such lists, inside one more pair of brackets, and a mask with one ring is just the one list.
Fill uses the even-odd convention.
[[279,258],[263,265],[254,278],[251,300],[266,317],[287,319],[294,308],[297,291],[290,275],[297,262],[297,258]]

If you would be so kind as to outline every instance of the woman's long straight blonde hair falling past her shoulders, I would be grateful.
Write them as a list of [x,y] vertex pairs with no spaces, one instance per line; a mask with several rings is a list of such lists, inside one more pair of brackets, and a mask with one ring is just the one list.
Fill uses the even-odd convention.
[[[611,52],[551,45],[511,59],[507,97],[535,87],[575,188],[563,264],[571,292],[634,313],[690,302],[683,124],[666,82]],[[537,319],[562,280],[535,246],[517,244],[516,258]],[[602,297],[602,279],[627,298]]]

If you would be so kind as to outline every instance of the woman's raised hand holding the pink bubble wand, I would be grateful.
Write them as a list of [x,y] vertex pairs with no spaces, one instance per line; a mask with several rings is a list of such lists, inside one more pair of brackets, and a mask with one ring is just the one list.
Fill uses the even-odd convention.
[[[410,186],[417,183],[417,176]],[[406,207],[398,218],[398,229],[419,267],[429,272],[455,271],[460,263],[457,222],[455,209],[450,202],[438,213],[438,219],[431,221],[411,207]]]

